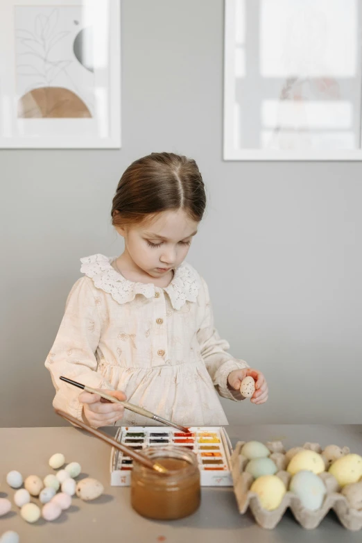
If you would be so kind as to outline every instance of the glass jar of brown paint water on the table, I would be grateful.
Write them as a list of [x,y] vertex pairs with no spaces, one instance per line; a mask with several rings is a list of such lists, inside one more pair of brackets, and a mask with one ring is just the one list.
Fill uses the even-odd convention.
[[134,462],[131,482],[132,508],[149,519],[182,519],[200,506],[200,471],[192,451],[178,446],[149,447],[148,458],[169,469],[160,474]]

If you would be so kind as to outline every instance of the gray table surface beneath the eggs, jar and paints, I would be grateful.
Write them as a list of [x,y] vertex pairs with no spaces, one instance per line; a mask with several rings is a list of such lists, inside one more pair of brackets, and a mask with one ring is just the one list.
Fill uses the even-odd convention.
[[[362,426],[226,426],[232,445],[239,440],[282,440],[287,448],[304,442],[347,445],[362,454]],[[107,428],[114,433],[114,428]],[[19,533],[20,543],[125,541],[127,543],[298,543],[361,542],[362,532],[350,532],[330,512],[314,531],[305,531],[286,512],[273,531],[255,524],[249,512],[239,515],[232,488],[203,488],[198,512],[180,521],[150,521],[130,506],[130,489],[110,486],[110,446],[71,426],[62,428],[0,428],[0,497],[12,501],[15,490],[8,487],[6,474],[12,469],[24,477],[44,477],[53,470],[48,460],[62,452],[67,462],[80,462],[80,477],[92,476],[105,486],[105,494],[84,503],[74,498],[73,505],[59,519],[40,519],[27,524],[16,506],[0,517],[0,535],[7,530]],[[35,500],[36,501],[36,500]],[[13,503],[13,501],[12,501]]]

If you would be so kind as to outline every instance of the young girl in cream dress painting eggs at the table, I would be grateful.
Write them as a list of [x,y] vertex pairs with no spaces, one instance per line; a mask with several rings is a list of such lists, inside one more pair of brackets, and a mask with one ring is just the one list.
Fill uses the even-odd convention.
[[95,428],[150,424],[60,376],[182,426],[227,424],[217,392],[242,400],[245,376],[256,381],[251,401],[268,399],[263,374],[227,353],[229,344],[214,328],[207,284],[184,262],[205,203],[198,166],[184,156],[152,153],[123,173],[112,224],[125,249],[118,258],[81,259],[85,276],[71,289],[45,362],[56,390],[55,408]]

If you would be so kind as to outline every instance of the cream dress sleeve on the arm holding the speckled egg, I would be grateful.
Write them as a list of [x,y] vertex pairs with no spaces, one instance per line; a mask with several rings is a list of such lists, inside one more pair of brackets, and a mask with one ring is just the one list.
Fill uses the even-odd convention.
[[241,393],[227,387],[227,376],[234,369],[243,369],[249,366],[244,360],[236,360],[230,353],[227,353],[230,344],[226,340],[222,340],[218,335],[218,331],[214,326],[209,289],[203,278],[201,278],[201,283],[203,295],[200,296],[200,303],[205,304],[204,317],[197,333],[201,356],[218,394],[223,398],[241,401],[244,399]]

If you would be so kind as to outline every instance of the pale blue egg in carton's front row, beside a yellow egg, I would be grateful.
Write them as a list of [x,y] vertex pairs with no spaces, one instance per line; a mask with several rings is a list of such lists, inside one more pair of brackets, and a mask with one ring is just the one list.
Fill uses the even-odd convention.
[[327,493],[325,483],[313,471],[298,471],[291,479],[289,490],[298,496],[302,506],[309,511],[320,509]]

